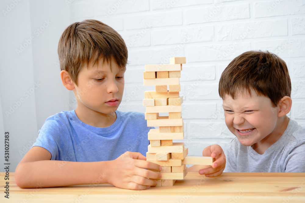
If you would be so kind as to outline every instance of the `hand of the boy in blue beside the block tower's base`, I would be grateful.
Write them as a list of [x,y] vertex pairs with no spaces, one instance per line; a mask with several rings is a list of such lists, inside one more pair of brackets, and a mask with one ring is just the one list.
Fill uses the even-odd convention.
[[117,159],[109,162],[108,182],[116,187],[132,190],[144,190],[155,186],[160,179],[161,166],[146,161],[146,157],[138,152],[125,152]]

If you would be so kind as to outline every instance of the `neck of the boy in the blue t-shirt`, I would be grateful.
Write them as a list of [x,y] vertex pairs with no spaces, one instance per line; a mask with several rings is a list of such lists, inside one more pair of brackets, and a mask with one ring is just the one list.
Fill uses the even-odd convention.
[[117,119],[117,114],[115,112],[111,114],[102,114],[92,110],[90,112],[86,111],[84,113],[84,111],[81,110],[79,106],[76,107],[75,114],[83,123],[98,128],[109,127]]

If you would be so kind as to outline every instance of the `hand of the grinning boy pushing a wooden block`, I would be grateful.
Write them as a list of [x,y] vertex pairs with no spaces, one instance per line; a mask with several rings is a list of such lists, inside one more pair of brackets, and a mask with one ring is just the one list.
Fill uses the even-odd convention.
[[224,151],[219,145],[210,145],[203,149],[202,156],[211,156],[214,160],[212,166],[200,169],[199,173],[201,175],[205,174],[206,177],[216,177],[221,175],[224,171],[224,167],[226,166],[226,156],[224,155]]

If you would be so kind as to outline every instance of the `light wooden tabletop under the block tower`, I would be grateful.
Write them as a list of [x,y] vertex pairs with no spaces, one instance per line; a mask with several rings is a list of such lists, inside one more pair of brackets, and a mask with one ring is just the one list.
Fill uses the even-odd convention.
[[305,202],[305,173],[223,173],[215,178],[188,173],[172,187],[144,191],[109,184],[21,189],[9,173],[9,199],[4,197],[4,176],[0,173],[0,202]]

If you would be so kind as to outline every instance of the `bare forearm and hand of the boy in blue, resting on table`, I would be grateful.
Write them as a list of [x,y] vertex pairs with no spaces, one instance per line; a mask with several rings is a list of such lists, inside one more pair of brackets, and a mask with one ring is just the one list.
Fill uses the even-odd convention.
[[112,161],[70,162],[50,160],[51,153],[32,147],[15,171],[16,184],[22,188],[59,187],[78,184],[109,183],[116,187],[141,190],[156,185],[160,166],[145,161],[138,152],[125,152]]

